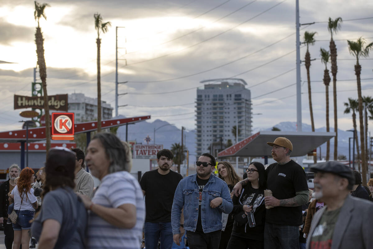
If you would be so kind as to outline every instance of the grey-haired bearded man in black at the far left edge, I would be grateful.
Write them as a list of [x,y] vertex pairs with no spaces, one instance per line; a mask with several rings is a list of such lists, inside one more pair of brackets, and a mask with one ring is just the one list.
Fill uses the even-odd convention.
[[[9,167],[9,180],[1,184],[0,186],[0,207],[1,207],[1,214],[0,214],[0,224],[4,224],[4,243],[6,249],[11,249],[14,239],[14,232],[13,232],[13,225],[10,220],[8,220],[8,193],[11,192],[16,184],[14,183],[14,179],[19,177],[19,173],[21,172],[21,168],[17,164],[12,164]],[[8,222],[9,221],[9,222]]]

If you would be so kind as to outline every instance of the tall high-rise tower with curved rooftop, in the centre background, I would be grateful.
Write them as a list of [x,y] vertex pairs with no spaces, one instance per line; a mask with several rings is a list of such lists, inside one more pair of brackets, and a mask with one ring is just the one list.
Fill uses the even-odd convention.
[[[216,154],[224,145],[235,144],[232,129],[238,123],[238,141],[251,135],[251,94],[242,79],[204,80],[197,89],[196,152]],[[220,144],[220,146],[214,146]]]

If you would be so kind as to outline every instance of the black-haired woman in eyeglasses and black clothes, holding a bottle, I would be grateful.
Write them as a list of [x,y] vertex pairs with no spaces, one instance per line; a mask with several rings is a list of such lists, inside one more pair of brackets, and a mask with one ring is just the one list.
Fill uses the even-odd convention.
[[[232,214],[235,221],[227,249],[264,248],[264,190],[267,186],[264,171],[263,164],[252,162],[246,169],[248,183],[242,187],[239,197],[233,195]],[[255,227],[250,227],[248,218],[243,216],[249,215],[249,212],[254,214]]]

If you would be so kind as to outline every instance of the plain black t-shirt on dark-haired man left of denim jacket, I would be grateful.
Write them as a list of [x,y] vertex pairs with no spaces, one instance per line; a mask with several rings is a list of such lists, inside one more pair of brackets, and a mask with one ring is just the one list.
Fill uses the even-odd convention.
[[146,222],[171,222],[173,196],[182,178],[172,170],[167,175],[159,174],[158,169],[142,175],[140,186],[145,190]]

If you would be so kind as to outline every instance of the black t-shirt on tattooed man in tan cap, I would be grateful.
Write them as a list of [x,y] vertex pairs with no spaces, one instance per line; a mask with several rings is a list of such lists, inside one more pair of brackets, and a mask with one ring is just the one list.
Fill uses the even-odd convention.
[[[304,169],[291,160],[287,164],[274,163],[266,169],[267,188],[273,197],[283,200],[295,197],[295,192],[308,190]],[[267,209],[266,222],[278,225],[302,224],[302,207],[278,206]]]

